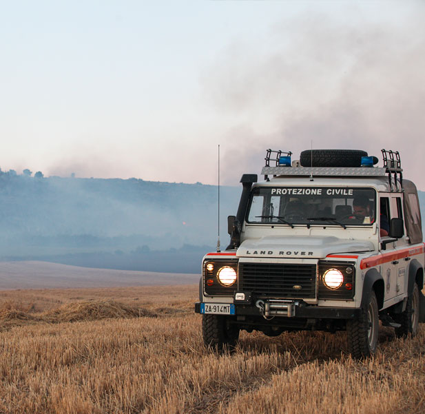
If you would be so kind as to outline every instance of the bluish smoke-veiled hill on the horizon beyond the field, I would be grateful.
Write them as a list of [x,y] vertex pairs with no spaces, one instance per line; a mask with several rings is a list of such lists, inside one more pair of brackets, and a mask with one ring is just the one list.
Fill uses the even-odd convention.
[[[241,187],[220,189],[220,240]],[[198,273],[217,242],[214,185],[0,171],[0,260]],[[419,192],[422,211],[425,193]],[[425,215],[422,214],[422,216]]]

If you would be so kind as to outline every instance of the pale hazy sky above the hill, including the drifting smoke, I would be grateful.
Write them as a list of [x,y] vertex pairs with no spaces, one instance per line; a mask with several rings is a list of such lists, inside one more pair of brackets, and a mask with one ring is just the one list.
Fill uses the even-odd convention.
[[0,167],[215,184],[398,149],[425,189],[424,1],[0,1]]

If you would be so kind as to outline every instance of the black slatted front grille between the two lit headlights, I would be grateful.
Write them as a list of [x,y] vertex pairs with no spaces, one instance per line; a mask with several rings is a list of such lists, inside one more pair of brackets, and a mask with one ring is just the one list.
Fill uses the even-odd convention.
[[257,297],[315,298],[316,273],[316,265],[239,263],[239,290]]

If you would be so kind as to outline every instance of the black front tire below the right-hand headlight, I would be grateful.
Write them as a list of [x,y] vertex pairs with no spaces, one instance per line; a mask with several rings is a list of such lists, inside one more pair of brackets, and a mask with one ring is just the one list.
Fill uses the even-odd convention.
[[375,292],[372,291],[360,318],[346,322],[349,353],[353,358],[367,358],[376,352],[379,322],[377,300]]

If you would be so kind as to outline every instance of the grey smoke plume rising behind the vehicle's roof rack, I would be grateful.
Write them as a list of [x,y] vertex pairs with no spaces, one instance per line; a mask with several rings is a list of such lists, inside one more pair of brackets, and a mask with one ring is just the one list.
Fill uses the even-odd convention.
[[398,7],[398,20],[302,14],[218,56],[204,76],[211,102],[235,120],[225,183],[260,172],[269,147],[298,158],[313,145],[379,158],[382,148],[398,150],[406,178],[425,189],[425,6]]

